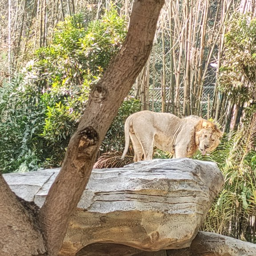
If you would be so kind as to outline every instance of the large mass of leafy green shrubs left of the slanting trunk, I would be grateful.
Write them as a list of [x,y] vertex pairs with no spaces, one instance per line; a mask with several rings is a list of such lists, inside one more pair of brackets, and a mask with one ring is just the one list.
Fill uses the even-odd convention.
[[69,17],[52,44],[0,88],[1,172],[60,166],[91,86],[118,52],[125,28],[114,8],[94,22]]

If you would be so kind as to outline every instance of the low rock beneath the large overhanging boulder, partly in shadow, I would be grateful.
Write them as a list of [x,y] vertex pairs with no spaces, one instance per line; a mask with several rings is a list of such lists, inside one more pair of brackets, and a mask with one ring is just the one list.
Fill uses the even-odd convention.
[[256,244],[199,231],[188,248],[145,252],[122,244],[89,244],[76,256],[256,256]]

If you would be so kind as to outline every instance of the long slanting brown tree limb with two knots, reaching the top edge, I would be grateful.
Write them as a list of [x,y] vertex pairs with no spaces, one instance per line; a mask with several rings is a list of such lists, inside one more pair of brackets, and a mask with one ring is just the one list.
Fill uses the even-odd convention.
[[51,256],[56,256],[60,250],[70,216],[88,182],[107,129],[148,59],[163,4],[164,0],[135,0],[126,41],[92,89],[61,171],[40,210],[40,222]]

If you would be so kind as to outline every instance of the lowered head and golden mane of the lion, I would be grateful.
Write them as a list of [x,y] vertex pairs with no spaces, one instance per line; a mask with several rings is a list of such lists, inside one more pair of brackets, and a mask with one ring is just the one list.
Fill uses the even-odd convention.
[[216,124],[207,120],[200,120],[196,125],[196,146],[205,155],[206,152],[211,152],[220,144],[220,138],[223,133]]

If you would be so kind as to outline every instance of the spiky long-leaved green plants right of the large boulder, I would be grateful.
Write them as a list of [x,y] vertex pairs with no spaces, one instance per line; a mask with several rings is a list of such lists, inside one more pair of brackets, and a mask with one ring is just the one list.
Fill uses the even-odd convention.
[[202,229],[238,239],[255,241],[252,216],[256,214],[256,152],[255,137],[249,130],[224,134],[219,147],[200,160],[215,161],[225,179],[223,190],[216,198]]

